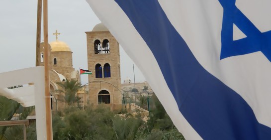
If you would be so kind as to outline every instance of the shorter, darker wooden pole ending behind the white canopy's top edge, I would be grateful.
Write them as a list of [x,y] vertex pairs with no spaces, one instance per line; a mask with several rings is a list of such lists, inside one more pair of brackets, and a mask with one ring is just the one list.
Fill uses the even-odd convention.
[[41,35],[41,9],[42,0],[38,0],[38,11],[37,11],[37,42],[36,42],[36,66],[39,66],[40,61],[40,35]]

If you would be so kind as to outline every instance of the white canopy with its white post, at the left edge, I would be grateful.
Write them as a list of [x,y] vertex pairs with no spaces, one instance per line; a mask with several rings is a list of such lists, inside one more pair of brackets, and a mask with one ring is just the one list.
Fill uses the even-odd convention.
[[[16,85],[29,85],[8,89]],[[0,95],[15,100],[23,107],[35,106],[37,140],[47,140],[44,67],[32,67],[0,73]]]

